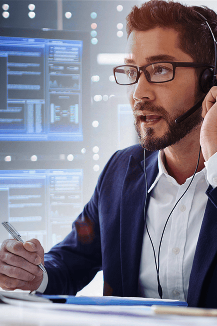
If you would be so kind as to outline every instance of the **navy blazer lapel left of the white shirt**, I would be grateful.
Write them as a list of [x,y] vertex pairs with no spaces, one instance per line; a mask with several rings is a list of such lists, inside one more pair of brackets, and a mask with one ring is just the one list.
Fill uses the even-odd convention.
[[[150,173],[148,185],[157,175],[156,154],[154,153],[153,156],[152,161],[155,161],[155,164],[146,167],[147,175]],[[138,163],[133,156],[130,157],[121,195],[120,252],[124,297],[138,295],[146,194],[143,162],[141,163]],[[149,198],[147,198],[147,205],[148,201]]]

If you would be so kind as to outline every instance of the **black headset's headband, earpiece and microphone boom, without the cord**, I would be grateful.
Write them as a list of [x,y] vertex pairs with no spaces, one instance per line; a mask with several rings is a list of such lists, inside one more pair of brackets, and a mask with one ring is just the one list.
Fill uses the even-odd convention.
[[207,18],[205,18],[200,12],[197,12],[204,21],[206,22],[207,26],[210,29],[210,32],[212,34],[213,40],[214,40],[214,48],[215,48],[215,63],[214,63],[214,68],[207,68],[201,75],[200,77],[200,86],[202,91],[205,93],[205,95],[202,97],[202,99],[196,103],[191,109],[189,109],[187,112],[185,112],[183,115],[179,116],[175,122],[180,123],[184,121],[186,118],[188,118],[190,115],[192,115],[194,112],[196,112],[200,107],[202,106],[202,103],[209,93],[210,89],[217,84],[217,41],[214,36],[214,33],[207,21]]

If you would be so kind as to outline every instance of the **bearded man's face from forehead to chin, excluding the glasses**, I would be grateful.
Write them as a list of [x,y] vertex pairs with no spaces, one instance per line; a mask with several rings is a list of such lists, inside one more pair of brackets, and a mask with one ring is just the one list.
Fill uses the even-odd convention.
[[[156,61],[193,62],[178,47],[178,33],[169,28],[132,31],[127,53],[125,63],[136,66]],[[196,84],[194,68],[177,67],[172,81],[150,83],[142,72],[138,83],[128,86],[135,127],[144,148],[153,151],[171,146],[201,123],[200,110],[184,122],[175,123],[200,98]]]

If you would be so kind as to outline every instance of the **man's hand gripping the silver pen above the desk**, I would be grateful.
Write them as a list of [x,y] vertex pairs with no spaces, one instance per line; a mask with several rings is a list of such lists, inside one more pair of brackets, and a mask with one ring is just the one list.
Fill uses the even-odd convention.
[[0,249],[0,287],[3,290],[36,290],[43,272],[37,266],[44,264],[44,250],[36,239],[24,244],[5,240]]

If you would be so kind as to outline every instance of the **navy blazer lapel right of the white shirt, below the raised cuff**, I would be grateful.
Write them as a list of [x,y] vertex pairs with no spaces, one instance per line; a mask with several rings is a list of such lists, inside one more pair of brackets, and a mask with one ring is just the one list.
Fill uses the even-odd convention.
[[217,254],[216,238],[217,208],[208,199],[190,275],[187,299],[189,306],[198,306],[204,279]]

